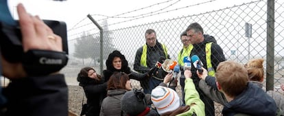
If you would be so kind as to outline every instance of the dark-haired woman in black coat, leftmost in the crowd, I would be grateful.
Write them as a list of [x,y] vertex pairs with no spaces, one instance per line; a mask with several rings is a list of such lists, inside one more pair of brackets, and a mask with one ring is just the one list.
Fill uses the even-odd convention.
[[86,116],[98,116],[102,101],[106,97],[107,83],[92,67],[81,69],[77,80],[87,98]]

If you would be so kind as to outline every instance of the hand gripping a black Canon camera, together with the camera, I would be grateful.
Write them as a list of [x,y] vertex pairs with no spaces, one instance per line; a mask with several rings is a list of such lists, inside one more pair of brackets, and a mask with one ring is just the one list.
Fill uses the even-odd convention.
[[[62,44],[62,38],[54,34],[39,16],[28,14],[23,4],[17,5],[17,10],[21,30],[1,23],[3,76],[12,79],[60,71],[68,61],[67,53],[63,52],[67,45]],[[60,31],[66,34],[66,30]]]

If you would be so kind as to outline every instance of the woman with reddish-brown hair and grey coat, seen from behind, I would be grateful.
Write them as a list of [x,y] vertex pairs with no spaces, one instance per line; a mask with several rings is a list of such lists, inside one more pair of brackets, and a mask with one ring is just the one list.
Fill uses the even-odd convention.
[[102,102],[101,116],[123,115],[121,98],[126,91],[131,91],[131,82],[126,73],[115,72],[108,80],[107,97]]

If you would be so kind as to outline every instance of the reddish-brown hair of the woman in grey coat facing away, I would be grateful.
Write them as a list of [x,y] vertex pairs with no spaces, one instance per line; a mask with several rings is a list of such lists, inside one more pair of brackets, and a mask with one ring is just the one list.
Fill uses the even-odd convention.
[[107,90],[126,89],[126,82],[129,77],[126,73],[115,71],[108,80]]

